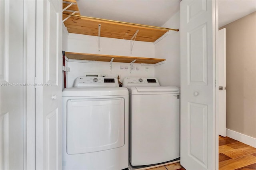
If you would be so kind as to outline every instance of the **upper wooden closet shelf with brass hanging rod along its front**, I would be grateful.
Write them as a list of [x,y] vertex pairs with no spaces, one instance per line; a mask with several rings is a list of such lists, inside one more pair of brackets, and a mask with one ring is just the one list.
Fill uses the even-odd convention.
[[[65,0],[68,2],[75,2],[76,0]],[[63,4],[65,8],[67,4]],[[77,5],[73,5],[68,10],[78,10]],[[63,19],[70,16],[72,12],[63,12]],[[124,40],[131,40],[137,30],[136,41],[143,42],[155,42],[158,38],[162,37],[169,30],[175,30],[170,28],[160,28],[154,26],[145,26],[141,24],[133,24],[119,21],[104,20],[100,18],[91,18],[80,16],[80,13],[76,13],[68,18],[64,22],[68,32],[75,34],[84,34],[90,36],[98,36],[99,34],[99,24],[100,27],[100,37],[107,38],[118,38]],[[169,29],[169,30],[168,30]],[[178,30],[176,30],[178,31]]]

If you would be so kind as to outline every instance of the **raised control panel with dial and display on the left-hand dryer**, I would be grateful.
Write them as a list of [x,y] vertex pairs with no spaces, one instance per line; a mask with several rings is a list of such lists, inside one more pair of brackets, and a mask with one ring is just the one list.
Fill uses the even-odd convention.
[[74,87],[119,87],[116,77],[77,77]]

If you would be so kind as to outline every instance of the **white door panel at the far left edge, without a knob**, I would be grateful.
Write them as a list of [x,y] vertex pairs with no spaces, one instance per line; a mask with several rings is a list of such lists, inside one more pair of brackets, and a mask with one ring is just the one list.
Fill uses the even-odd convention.
[[0,0],[0,170],[23,169],[23,5]]

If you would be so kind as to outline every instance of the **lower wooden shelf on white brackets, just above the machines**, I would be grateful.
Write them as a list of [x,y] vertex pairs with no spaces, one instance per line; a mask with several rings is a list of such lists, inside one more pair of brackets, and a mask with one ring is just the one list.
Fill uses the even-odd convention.
[[146,63],[146,64],[156,64],[161,61],[165,61],[165,59],[157,59],[157,58],[144,58],[144,57],[125,57],[118,55],[102,55],[102,54],[87,54],[87,53],[72,53],[65,52],[66,57],[68,59],[80,59],[80,60],[91,60],[91,61],[108,61],[110,62],[112,58],[114,58],[113,62],[120,63],[130,63],[136,59],[135,63]]

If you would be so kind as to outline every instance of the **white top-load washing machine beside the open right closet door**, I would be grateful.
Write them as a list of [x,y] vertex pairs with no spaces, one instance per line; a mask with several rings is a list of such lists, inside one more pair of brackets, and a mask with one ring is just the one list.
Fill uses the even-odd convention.
[[132,166],[180,157],[180,91],[156,78],[126,77],[129,90],[129,160]]

